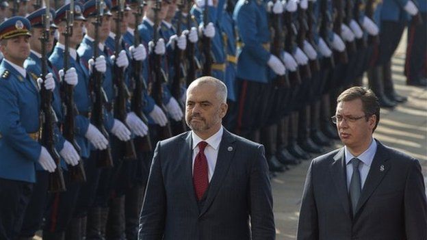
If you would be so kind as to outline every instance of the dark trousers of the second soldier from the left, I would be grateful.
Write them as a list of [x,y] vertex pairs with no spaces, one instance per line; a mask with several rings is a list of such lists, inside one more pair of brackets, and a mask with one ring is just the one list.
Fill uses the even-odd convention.
[[[36,183],[29,200],[19,237],[33,237],[42,226],[42,219],[47,206],[47,189],[49,172],[36,171]],[[68,185],[66,185],[68,187]]]

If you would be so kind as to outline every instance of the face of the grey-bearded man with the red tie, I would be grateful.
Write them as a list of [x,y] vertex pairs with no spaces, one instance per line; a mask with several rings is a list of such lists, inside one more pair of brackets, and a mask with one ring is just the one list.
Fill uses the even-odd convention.
[[218,97],[215,85],[193,85],[187,90],[185,122],[200,137],[213,135],[221,126],[227,108],[227,103]]

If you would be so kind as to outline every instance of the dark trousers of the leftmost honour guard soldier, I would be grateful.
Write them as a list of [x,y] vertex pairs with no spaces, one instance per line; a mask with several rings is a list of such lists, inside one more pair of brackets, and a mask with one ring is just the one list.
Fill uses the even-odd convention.
[[0,239],[12,240],[18,237],[33,185],[0,178]]

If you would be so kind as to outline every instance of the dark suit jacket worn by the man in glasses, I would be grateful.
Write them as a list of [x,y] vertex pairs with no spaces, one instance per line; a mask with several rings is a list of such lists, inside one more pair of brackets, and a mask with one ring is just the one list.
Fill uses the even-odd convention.
[[344,148],[311,162],[298,240],[426,240],[426,194],[417,159],[380,142],[352,219]]

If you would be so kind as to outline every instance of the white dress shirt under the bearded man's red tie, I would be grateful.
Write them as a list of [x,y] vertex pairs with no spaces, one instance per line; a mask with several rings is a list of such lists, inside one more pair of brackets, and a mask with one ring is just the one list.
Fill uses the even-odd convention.
[[222,139],[222,133],[224,133],[224,129],[222,126],[218,132],[211,135],[206,140],[201,139],[192,131],[192,139],[193,139],[193,163],[192,163],[192,172],[194,171],[194,160],[196,159],[196,155],[198,154],[198,146],[199,142],[207,142],[207,146],[205,148],[205,156],[207,159],[207,176],[209,178],[209,183],[211,182],[211,178],[213,176],[213,172],[215,171],[216,159],[218,158],[218,150],[220,148],[220,143]]

